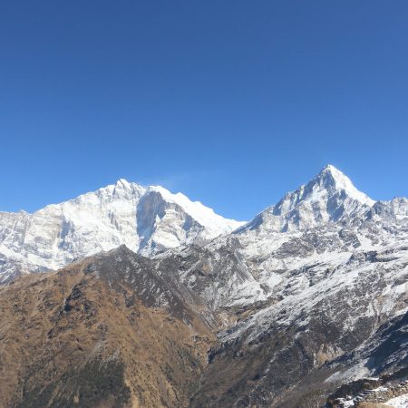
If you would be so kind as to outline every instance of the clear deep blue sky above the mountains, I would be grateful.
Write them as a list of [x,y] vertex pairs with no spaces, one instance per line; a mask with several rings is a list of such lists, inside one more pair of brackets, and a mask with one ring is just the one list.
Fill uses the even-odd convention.
[[0,209],[125,178],[250,219],[326,163],[408,196],[407,21],[406,0],[0,0]]

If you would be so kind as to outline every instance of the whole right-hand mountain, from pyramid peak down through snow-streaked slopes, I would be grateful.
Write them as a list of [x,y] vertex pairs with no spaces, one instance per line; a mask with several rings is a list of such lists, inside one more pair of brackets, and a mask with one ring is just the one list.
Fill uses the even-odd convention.
[[[407,366],[408,337],[383,326],[401,327],[408,313],[407,203],[375,202],[327,166],[195,249],[210,254],[201,257],[201,265],[210,259],[206,274],[200,263],[183,266],[181,279],[238,319],[219,332],[192,406],[320,406],[325,390]],[[179,256],[189,259],[185,251]],[[402,347],[398,357],[389,336]],[[374,363],[379,355],[383,365]]]

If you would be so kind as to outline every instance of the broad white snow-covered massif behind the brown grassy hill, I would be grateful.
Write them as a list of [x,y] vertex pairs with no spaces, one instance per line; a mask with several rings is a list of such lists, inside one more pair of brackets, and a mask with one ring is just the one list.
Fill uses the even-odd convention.
[[149,256],[181,244],[203,244],[241,224],[183,194],[118,180],[34,214],[0,212],[0,282],[120,245]]

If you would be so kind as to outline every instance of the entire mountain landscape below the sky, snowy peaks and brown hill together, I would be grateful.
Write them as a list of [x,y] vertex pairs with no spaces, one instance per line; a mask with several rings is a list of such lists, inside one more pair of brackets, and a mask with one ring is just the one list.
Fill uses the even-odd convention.
[[408,199],[331,165],[247,223],[125,180],[0,213],[0,273],[0,406],[408,406]]

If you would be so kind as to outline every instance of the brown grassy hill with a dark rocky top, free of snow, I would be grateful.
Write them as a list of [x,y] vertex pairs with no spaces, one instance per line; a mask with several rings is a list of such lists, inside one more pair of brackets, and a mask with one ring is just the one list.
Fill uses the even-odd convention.
[[0,288],[0,313],[5,407],[187,407],[213,341],[124,247]]

